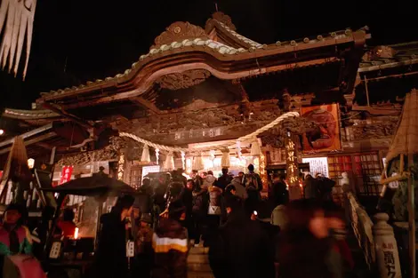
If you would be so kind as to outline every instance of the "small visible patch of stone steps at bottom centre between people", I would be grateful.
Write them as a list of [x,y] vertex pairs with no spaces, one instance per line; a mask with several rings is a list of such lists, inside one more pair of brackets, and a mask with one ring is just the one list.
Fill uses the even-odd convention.
[[214,278],[209,259],[208,248],[192,247],[188,257],[188,278]]

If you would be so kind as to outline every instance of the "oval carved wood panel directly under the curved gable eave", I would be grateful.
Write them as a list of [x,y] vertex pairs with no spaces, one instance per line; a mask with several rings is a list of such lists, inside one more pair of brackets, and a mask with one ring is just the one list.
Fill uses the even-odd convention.
[[193,69],[182,73],[164,75],[157,80],[157,83],[165,89],[180,90],[202,83],[210,75],[211,73],[205,69]]

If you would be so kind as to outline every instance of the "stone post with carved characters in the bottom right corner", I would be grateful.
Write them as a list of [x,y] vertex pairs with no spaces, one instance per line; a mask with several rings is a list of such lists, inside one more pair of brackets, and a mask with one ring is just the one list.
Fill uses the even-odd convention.
[[374,215],[373,234],[377,268],[381,278],[402,278],[398,244],[388,220],[389,216],[386,213]]

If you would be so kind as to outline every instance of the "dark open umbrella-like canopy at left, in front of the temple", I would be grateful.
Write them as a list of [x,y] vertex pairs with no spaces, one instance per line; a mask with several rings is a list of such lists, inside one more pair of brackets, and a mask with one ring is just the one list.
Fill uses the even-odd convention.
[[98,174],[92,175],[92,177],[73,179],[59,187],[43,188],[42,190],[81,196],[135,194],[135,189],[125,182]]

